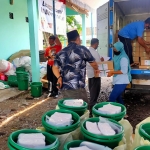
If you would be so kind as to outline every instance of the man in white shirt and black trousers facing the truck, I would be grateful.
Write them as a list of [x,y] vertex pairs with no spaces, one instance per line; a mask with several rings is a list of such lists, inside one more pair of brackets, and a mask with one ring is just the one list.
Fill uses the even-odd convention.
[[[99,45],[99,40],[97,38],[93,38],[91,40],[91,46],[89,47],[89,51],[92,54],[92,56],[95,58],[96,62],[104,61],[104,59],[101,58],[99,53],[97,52],[98,45]],[[88,77],[88,87],[90,92],[89,110],[91,116],[92,107],[97,103],[97,99],[100,93],[101,78],[95,77],[94,70],[88,62],[86,64],[86,74]]]

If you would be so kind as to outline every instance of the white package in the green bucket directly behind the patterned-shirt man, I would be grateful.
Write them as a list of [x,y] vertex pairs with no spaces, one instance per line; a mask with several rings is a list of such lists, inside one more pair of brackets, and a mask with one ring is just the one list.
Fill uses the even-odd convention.
[[80,107],[83,106],[83,100],[82,99],[64,100],[63,104],[66,106]]

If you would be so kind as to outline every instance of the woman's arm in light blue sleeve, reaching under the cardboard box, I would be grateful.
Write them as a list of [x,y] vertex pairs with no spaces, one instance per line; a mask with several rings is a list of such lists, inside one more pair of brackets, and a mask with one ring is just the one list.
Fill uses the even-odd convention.
[[108,77],[111,77],[115,74],[127,74],[128,73],[128,65],[129,65],[129,62],[128,62],[128,59],[127,58],[122,58],[120,60],[120,70],[117,70],[117,71],[109,71],[108,72]]

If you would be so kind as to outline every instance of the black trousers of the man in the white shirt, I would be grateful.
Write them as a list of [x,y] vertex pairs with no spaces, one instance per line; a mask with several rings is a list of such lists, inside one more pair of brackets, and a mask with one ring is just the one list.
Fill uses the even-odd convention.
[[89,110],[92,111],[92,107],[97,103],[97,99],[101,88],[101,78],[88,78],[88,87],[90,92]]

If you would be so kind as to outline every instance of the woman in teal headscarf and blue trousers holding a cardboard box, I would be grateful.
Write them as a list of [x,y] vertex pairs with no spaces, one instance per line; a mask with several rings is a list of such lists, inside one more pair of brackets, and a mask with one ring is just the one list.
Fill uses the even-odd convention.
[[124,50],[121,42],[114,44],[114,71],[108,72],[108,77],[113,76],[113,90],[110,94],[110,102],[118,102],[124,104],[122,93],[131,81],[131,68],[129,58]]

